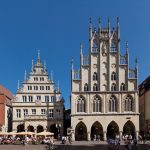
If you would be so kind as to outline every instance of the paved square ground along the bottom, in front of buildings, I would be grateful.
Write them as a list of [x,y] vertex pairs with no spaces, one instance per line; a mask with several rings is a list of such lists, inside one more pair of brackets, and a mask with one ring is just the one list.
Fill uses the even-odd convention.
[[[72,144],[61,144],[56,142],[55,150],[116,150],[106,142],[73,142]],[[0,150],[45,150],[45,145],[0,145]],[[120,145],[117,150],[127,150],[125,145]],[[138,144],[137,150],[150,150],[149,144]]]

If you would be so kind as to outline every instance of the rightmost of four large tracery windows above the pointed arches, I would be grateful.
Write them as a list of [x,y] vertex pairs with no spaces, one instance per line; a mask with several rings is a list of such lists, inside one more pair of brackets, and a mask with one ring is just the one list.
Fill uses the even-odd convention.
[[133,111],[133,98],[131,96],[127,96],[124,100],[125,111]]

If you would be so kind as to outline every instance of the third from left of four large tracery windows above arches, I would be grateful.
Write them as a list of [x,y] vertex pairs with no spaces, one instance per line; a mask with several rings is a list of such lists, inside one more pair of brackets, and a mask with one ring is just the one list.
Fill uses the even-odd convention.
[[109,112],[117,112],[117,98],[113,95],[109,99]]

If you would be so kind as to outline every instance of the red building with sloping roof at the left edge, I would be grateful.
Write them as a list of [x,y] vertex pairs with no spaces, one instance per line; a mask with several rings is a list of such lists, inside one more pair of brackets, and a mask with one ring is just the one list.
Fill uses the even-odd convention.
[[0,85],[0,132],[12,130],[12,93]]

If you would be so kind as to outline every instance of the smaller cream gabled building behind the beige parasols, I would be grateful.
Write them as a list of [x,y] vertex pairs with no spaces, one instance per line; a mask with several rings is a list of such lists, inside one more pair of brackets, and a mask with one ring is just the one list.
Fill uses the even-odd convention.
[[18,82],[18,90],[13,102],[13,131],[63,133],[64,101],[59,87],[55,87],[53,75],[49,79],[46,63],[41,63],[40,51],[38,59],[27,78],[26,72],[22,87]]

